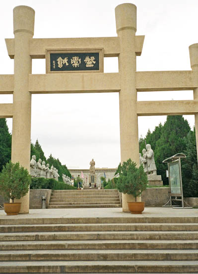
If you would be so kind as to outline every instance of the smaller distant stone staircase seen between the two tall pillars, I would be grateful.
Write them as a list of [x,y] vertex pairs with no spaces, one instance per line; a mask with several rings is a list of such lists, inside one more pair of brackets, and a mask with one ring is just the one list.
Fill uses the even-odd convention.
[[54,190],[48,208],[121,207],[117,189]]

